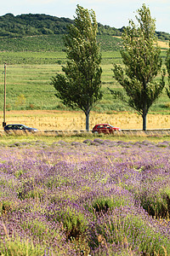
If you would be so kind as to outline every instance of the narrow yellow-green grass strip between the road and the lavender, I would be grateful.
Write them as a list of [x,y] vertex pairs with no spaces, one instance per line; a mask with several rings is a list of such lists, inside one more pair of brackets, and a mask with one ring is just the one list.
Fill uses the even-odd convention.
[[0,145],[1,146],[9,146],[15,144],[15,146],[22,146],[22,143],[46,143],[47,145],[51,145],[53,143],[57,143],[61,140],[65,141],[66,143],[73,143],[78,142],[82,143],[85,140],[94,140],[96,138],[101,138],[104,140],[110,140],[110,141],[122,141],[122,142],[129,142],[132,143],[136,142],[143,142],[145,140],[152,142],[152,143],[163,143],[164,141],[169,141],[169,136],[134,136],[134,135],[104,135],[104,134],[92,134],[92,133],[80,133],[75,135],[75,133],[60,133],[59,135],[54,135],[54,133],[43,133],[39,132],[37,134],[11,134],[6,135],[5,133],[0,134]]

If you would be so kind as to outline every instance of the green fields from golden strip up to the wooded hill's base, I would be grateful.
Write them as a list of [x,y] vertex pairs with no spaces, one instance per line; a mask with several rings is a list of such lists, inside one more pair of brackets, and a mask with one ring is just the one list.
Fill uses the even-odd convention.
[[[112,111],[133,111],[122,102],[112,98],[109,88],[122,90],[113,79],[113,63],[122,64],[119,49],[121,39],[111,36],[98,38],[101,45],[103,99],[94,111],[110,113]],[[3,110],[3,63],[7,63],[7,110],[20,109],[61,109],[65,106],[54,96],[54,87],[50,84],[55,73],[65,65],[65,51],[62,36],[44,36],[29,38],[11,38],[0,40],[0,110]],[[166,51],[162,49],[163,59]],[[150,108],[150,112],[170,113],[170,103],[165,90],[159,100]]]

